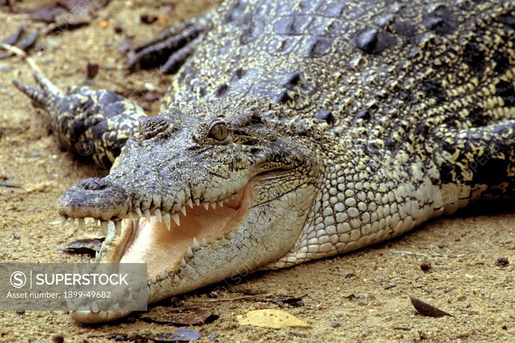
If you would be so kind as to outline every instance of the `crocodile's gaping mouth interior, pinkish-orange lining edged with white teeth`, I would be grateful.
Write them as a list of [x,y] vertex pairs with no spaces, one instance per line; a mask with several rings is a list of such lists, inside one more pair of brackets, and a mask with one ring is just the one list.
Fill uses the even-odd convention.
[[215,248],[216,242],[238,226],[250,207],[251,187],[217,202],[188,199],[178,213],[154,210],[131,213],[121,231],[110,231],[97,262],[147,263],[148,284],[175,277],[195,251]]

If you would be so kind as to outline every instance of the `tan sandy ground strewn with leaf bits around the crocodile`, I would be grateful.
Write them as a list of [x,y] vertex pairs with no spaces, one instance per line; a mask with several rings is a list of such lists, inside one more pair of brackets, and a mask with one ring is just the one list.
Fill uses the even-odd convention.
[[[162,90],[170,76],[150,82],[150,71],[125,76],[124,58],[117,46],[123,35],[113,31],[122,23],[136,35],[149,39],[163,28],[203,12],[209,1],[118,1],[98,12],[89,26],[45,38],[48,49],[36,62],[57,85],[83,84],[87,62],[100,64],[91,85],[127,92],[153,85]],[[171,11],[166,12],[166,8]],[[168,13],[168,20],[145,25],[140,14]],[[110,26],[99,29],[101,20]],[[27,14],[0,13],[2,37],[10,35]],[[34,27],[34,23],[32,23]],[[38,24],[42,25],[42,24]],[[55,204],[67,187],[83,178],[106,172],[81,164],[56,146],[49,125],[11,79],[33,83],[26,64],[18,58],[0,61],[0,177],[19,188],[0,186],[0,261],[80,262],[84,256],[65,254],[56,245],[85,237],[98,237],[98,228],[59,232]],[[153,79],[156,81],[155,79]],[[150,83],[149,83],[150,82]],[[158,102],[141,101],[152,113]],[[219,319],[190,329],[202,341],[215,333],[220,342],[236,341],[351,341],[351,342],[497,342],[515,341],[515,214],[512,203],[476,205],[455,218],[442,218],[394,241],[332,259],[287,270],[258,273],[239,283],[222,282],[179,297],[174,305],[164,301],[150,306],[159,315],[197,308]],[[511,213],[510,213],[511,212]],[[496,266],[506,257],[507,267]],[[432,272],[420,264],[428,260]],[[218,296],[210,292],[222,286]],[[393,287],[392,287],[393,286]],[[260,299],[221,301],[250,293],[302,297],[301,306]],[[355,299],[353,296],[355,296]],[[454,317],[418,315],[408,295],[421,298]],[[236,315],[259,308],[281,308],[311,324],[309,329],[241,327]],[[54,335],[68,342],[99,342],[116,334],[171,333],[177,327],[143,321],[133,315],[116,323],[95,327],[75,323],[65,312],[0,312],[0,341],[51,341]]]

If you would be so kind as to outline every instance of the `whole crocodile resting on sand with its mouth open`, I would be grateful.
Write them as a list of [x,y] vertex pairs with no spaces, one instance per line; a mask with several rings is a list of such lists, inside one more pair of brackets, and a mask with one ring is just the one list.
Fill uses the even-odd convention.
[[[106,168],[58,200],[96,262],[146,262],[148,303],[291,267],[513,195],[513,0],[230,0],[135,49],[160,113],[13,81]],[[126,311],[76,311],[83,323]]]

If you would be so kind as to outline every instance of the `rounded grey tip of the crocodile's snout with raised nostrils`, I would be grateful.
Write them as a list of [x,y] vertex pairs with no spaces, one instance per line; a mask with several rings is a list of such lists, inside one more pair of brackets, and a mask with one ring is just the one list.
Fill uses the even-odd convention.
[[73,218],[113,220],[130,208],[129,194],[106,178],[85,179],[68,188],[57,203],[59,213]]

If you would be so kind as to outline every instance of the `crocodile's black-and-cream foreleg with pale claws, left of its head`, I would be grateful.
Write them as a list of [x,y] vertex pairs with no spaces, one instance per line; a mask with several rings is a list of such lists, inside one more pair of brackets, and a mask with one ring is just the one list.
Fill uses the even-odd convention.
[[82,160],[110,168],[125,142],[145,116],[141,107],[106,90],[69,87],[60,91],[40,72],[33,71],[39,88],[13,80],[33,105],[49,113],[59,143]]

